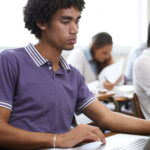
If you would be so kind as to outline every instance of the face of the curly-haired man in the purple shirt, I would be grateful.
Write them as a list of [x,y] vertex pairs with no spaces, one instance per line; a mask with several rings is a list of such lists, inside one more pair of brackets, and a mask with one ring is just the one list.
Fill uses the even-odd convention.
[[42,40],[56,50],[71,50],[77,40],[80,11],[74,7],[58,10],[42,32]]

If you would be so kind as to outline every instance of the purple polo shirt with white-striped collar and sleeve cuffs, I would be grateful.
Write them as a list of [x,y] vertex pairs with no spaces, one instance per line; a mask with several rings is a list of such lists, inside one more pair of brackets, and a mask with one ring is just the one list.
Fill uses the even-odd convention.
[[0,106],[11,110],[9,124],[28,131],[65,133],[74,112],[96,98],[77,69],[60,58],[54,72],[32,44],[0,54]]

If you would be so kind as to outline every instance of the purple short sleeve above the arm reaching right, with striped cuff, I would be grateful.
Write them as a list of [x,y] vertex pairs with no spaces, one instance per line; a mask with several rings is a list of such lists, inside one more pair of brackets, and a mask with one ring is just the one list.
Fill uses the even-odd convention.
[[89,91],[87,85],[85,84],[84,77],[78,73],[78,95],[77,95],[77,104],[76,104],[76,114],[85,109],[89,104],[91,104],[96,97],[91,91]]

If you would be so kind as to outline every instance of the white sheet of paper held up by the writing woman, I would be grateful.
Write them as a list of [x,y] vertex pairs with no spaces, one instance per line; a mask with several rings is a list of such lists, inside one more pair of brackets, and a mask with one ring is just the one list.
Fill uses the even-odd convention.
[[124,65],[124,58],[121,58],[116,63],[104,68],[102,70],[104,78],[111,83],[115,83],[117,79],[122,75],[123,65]]

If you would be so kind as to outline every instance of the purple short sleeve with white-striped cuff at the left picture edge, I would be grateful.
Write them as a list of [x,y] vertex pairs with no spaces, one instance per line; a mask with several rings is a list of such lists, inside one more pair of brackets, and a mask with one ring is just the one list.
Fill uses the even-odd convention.
[[8,53],[0,54],[0,106],[12,110],[15,90],[15,71]]

